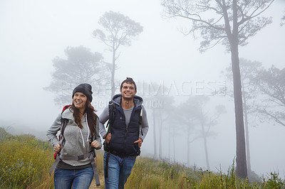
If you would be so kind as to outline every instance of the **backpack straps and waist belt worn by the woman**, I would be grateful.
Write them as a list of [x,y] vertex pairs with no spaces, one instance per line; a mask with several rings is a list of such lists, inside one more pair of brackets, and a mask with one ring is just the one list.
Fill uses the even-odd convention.
[[[68,109],[69,107],[71,107],[71,104],[66,105],[65,107],[63,107],[63,110],[61,111],[61,115],[63,114],[63,112]],[[61,134],[58,135],[58,139],[60,141],[60,144],[64,144],[65,139],[64,139],[64,130],[66,129],[66,125],[68,124],[68,119],[64,119],[61,117]],[[95,140],[95,135],[93,136],[89,136],[91,141]],[[62,139],[62,140],[61,140]],[[91,166],[93,168],[93,172],[94,172],[94,177],[95,177],[95,181],[96,181],[96,185],[99,186],[100,185],[100,180],[99,180],[99,175],[98,175],[98,171],[97,171],[97,162],[95,162],[94,158],[96,157],[96,153],[95,153],[95,148],[91,148],[89,153],[83,154],[81,156],[77,156],[77,157],[66,157],[63,158],[60,155],[60,151],[54,153],[53,158],[55,159],[53,165],[51,166],[51,170],[49,172],[49,174],[51,175],[52,171],[54,168],[56,168],[56,165],[59,163],[59,161],[61,161],[62,159],[66,159],[66,160],[81,160],[81,159],[85,159],[85,158],[90,158],[91,161]],[[97,161],[97,159],[96,159]]]

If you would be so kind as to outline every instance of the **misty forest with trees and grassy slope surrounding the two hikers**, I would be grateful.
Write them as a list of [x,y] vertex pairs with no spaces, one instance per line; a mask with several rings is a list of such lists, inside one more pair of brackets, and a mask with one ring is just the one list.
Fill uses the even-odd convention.
[[[127,188],[285,187],[284,0],[4,0],[0,12],[0,188],[52,187],[31,165],[53,163],[46,131],[74,87],[92,86],[100,115],[126,77],[150,126]],[[138,186],[150,162],[157,180]]]

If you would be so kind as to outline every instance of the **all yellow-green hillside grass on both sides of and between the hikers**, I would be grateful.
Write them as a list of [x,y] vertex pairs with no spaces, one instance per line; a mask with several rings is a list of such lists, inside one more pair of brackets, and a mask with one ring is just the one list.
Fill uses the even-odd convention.
[[[53,188],[53,175],[49,175],[53,161],[48,141],[31,135],[12,136],[0,128],[0,188]],[[98,151],[97,163],[102,178],[103,151]],[[234,161],[225,174],[138,157],[125,188],[285,188],[285,180],[276,172],[268,173],[261,182],[239,179]]]

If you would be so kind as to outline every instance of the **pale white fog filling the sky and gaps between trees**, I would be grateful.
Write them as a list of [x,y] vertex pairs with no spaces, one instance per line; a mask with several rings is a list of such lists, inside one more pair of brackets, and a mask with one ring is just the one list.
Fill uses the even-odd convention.
[[[285,27],[280,27],[284,9],[285,1],[279,0],[264,12],[263,16],[273,17],[273,23],[239,48],[240,58],[259,61],[265,68],[271,65],[284,68]],[[190,28],[190,22],[163,18],[160,1],[0,1],[0,86],[4,104],[0,109],[0,126],[16,134],[34,134],[45,139],[46,130],[61,112],[53,101],[55,95],[43,90],[52,81],[52,60],[66,58],[64,50],[68,46],[83,45],[102,53],[105,62],[112,61],[105,45],[92,36],[95,29],[101,28],[98,19],[105,11],[123,13],[144,27],[130,47],[120,48],[116,80],[133,77],[138,83],[137,95],[143,97],[147,97],[150,87],[147,83],[156,82],[170,88],[167,95],[174,97],[176,105],[189,96],[204,95],[211,97],[209,111],[217,104],[226,107],[227,113],[211,128],[217,134],[207,139],[211,170],[221,167],[226,172],[236,153],[234,102],[223,94],[213,97],[211,92],[230,85],[221,74],[230,65],[230,54],[222,45],[199,53],[199,38],[195,40],[192,35],[180,32]],[[202,85],[199,94],[194,92],[197,82]],[[210,89],[205,87],[208,82],[212,83]],[[93,99],[100,114],[110,94],[106,89],[103,94],[93,95]],[[153,156],[152,108],[157,104],[146,103],[150,130],[142,144],[142,156]],[[186,165],[185,131],[175,120],[172,126],[177,128],[175,148],[169,139],[169,126],[162,127],[162,156]],[[252,171],[259,175],[278,171],[284,177],[284,134],[284,126],[273,121],[249,127]],[[201,138],[190,144],[192,166],[206,167],[203,145]]]

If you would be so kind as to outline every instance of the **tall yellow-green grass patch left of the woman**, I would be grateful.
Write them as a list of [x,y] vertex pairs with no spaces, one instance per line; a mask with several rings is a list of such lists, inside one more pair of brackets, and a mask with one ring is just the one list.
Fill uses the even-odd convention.
[[47,141],[31,135],[11,136],[0,129],[0,188],[50,188],[52,154]]

